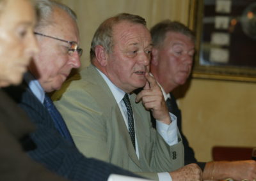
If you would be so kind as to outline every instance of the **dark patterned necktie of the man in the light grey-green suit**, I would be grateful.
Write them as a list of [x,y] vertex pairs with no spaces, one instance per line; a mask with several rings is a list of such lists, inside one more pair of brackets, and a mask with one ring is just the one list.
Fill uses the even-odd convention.
[[129,99],[129,96],[127,93],[124,95],[123,101],[127,108],[129,134],[131,137],[132,145],[135,149],[134,120],[133,120],[133,114],[132,114],[132,106],[131,106],[130,99]]

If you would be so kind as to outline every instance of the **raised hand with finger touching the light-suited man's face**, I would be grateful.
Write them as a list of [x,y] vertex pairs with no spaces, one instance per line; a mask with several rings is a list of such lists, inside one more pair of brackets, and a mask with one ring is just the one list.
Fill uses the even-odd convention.
[[157,84],[156,79],[150,76],[148,72],[145,73],[145,77],[147,78],[147,83],[143,91],[137,95],[136,102],[142,101],[145,108],[152,111],[152,115],[155,119],[164,124],[170,124],[172,120],[164,101],[161,88]]

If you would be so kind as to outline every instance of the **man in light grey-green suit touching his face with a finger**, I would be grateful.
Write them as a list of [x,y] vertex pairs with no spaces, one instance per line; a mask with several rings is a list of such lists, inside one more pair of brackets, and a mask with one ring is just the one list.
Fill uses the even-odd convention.
[[[68,80],[55,105],[84,155],[154,180],[201,180],[196,164],[182,167],[176,118],[148,73],[151,50],[144,18],[127,13],[108,18],[93,36],[92,64]],[[143,91],[132,94],[139,87]]]

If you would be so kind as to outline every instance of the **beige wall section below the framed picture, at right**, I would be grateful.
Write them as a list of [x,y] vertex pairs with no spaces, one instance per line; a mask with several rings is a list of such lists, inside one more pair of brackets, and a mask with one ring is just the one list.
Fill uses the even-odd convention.
[[256,83],[193,79],[180,99],[183,131],[200,161],[214,145],[256,147]]

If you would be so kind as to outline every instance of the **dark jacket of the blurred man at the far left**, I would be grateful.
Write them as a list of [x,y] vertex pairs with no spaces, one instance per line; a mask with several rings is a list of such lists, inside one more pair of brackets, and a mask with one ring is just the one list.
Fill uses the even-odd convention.
[[0,89],[0,180],[60,180],[26,154],[36,145],[29,138],[35,126],[12,99]]

